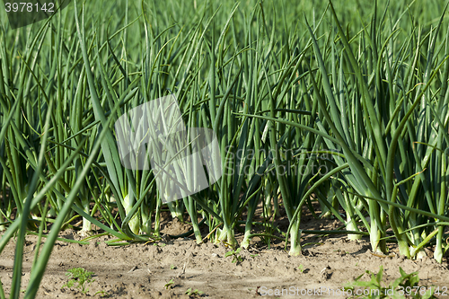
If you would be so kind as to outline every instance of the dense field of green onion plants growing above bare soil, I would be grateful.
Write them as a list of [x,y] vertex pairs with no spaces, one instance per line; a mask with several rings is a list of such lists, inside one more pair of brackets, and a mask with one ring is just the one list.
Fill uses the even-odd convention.
[[0,299],[40,297],[57,242],[189,238],[238,264],[256,243],[294,259],[339,236],[447,264],[444,1],[66,0],[37,22],[7,1]]

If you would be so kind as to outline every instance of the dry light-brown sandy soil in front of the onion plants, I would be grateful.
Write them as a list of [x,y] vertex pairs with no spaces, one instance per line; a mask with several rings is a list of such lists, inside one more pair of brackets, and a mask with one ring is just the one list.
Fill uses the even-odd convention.
[[[335,229],[339,223],[330,219],[305,216],[302,228]],[[178,220],[166,222],[163,233],[185,233],[188,224]],[[205,233],[205,236],[207,233]],[[61,233],[66,239],[80,240],[75,230]],[[239,239],[240,238],[240,239]],[[242,240],[242,235],[237,235]],[[22,289],[30,279],[31,262],[36,251],[37,237],[26,237],[23,259]],[[284,250],[284,242],[268,245],[254,238],[248,250],[225,257],[230,251],[225,245],[209,241],[197,244],[189,238],[165,238],[163,242],[138,243],[126,246],[108,246],[108,236],[96,239],[90,245],[57,242],[48,268],[40,285],[38,298],[194,298],[192,292],[202,292],[209,298],[346,298],[341,288],[354,282],[366,270],[377,273],[383,266],[383,286],[401,277],[399,268],[406,273],[418,271],[419,286],[439,287],[439,297],[449,298],[449,265],[445,257],[442,264],[432,259],[426,250],[424,259],[410,260],[399,257],[394,243],[389,244],[388,256],[372,253],[369,240],[348,241],[342,235],[314,236],[304,234],[302,256],[292,257]],[[100,242],[102,241],[102,242]],[[97,243],[100,242],[100,243]],[[13,277],[14,242],[9,242],[0,255],[0,279],[6,294]],[[85,268],[94,272],[89,291],[83,294],[67,283],[66,271]],[[365,275],[361,280],[368,281]],[[171,283],[172,282],[172,283]],[[282,290],[284,289],[284,295]],[[307,295],[307,291],[309,292]],[[320,292],[321,291],[321,292]],[[445,292],[444,292],[445,291]],[[444,295],[447,295],[445,297]]]

